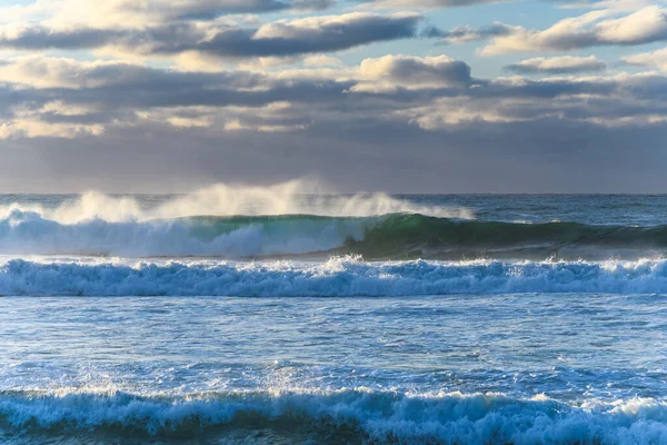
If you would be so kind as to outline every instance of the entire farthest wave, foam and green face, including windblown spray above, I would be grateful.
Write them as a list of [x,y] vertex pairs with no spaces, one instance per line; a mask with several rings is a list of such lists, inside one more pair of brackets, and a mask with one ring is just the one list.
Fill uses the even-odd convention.
[[219,185],[148,205],[84,194],[0,207],[0,255],[366,259],[639,258],[667,251],[667,226],[477,220],[466,208],[387,195],[301,195],[302,181]]

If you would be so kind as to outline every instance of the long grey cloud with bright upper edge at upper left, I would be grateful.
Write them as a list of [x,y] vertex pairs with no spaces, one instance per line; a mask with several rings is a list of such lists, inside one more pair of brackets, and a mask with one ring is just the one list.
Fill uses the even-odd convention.
[[257,28],[177,23],[143,30],[0,28],[0,47],[20,50],[116,49],[140,56],[197,52],[219,58],[290,57],[340,51],[415,37],[421,16],[408,12],[278,20]]

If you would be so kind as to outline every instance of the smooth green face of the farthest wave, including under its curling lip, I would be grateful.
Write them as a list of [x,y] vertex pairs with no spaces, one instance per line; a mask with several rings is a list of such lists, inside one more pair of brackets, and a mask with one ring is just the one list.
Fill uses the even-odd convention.
[[[417,214],[366,218],[312,215],[205,216],[180,220],[188,225],[195,237],[207,241],[250,228],[260,228],[267,238],[321,237],[327,234],[339,243],[322,248],[321,251],[359,254],[366,259],[455,259],[511,256],[512,253],[534,253],[536,257],[544,257],[558,255],[564,249],[667,248],[667,226],[471,221]],[[576,255],[581,255],[581,251]]]

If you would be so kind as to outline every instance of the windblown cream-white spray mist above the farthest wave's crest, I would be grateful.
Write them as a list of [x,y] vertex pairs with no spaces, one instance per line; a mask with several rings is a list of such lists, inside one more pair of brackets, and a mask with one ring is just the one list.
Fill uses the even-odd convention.
[[317,182],[307,180],[292,180],[268,187],[218,184],[175,196],[152,206],[147,206],[146,202],[133,197],[113,197],[89,191],[56,208],[18,202],[0,206],[0,219],[7,218],[16,210],[37,212],[44,219],[62,225],[72,225],[90,219],[128,222],[176,219],[198,215],[369,217],[409,212],[439,218],[475,218],[474,212],[466,208],[417,205],[387,194],[332,195]]

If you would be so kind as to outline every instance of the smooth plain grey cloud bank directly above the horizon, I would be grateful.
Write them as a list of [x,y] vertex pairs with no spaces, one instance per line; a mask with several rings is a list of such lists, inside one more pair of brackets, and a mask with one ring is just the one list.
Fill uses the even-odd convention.
[[350,192],[661,192],[665,138],[665,127],[560,120],[432,132],[396,123],[327,126],[216,139],[195,130],[129,128],[102,139],[7,141],[0,188],[167,192],[315,176]]

